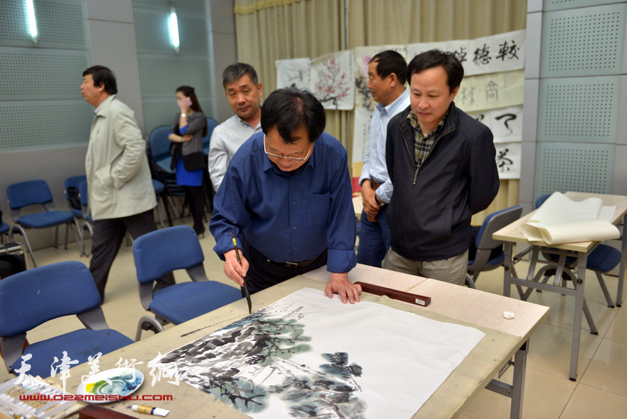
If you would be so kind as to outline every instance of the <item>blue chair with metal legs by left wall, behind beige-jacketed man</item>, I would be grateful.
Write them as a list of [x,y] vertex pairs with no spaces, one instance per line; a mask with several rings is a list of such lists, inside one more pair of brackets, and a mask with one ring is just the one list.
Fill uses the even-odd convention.
[[[9,206],[11,208],[11,218],[15,222],[13,233],[20,233],[26,242],[26,249],[31,255],[33,265],[37,266],[33,249],[26,237],[25,229],[43,229],[47,227],[56,227],[54,234],[54,247],[59,239],[59,225],[65,224],[65,249],[68,248],[68,229],[73,224],[75,230],[72,230],[81,251],[83,250],[82,235],[79,231],[79,225],[74,218],[74,214],[70,211],[58,211],[54,209],[52,203],[52,193],[45,181],[40,179],[36,181],[25,181],[13,183],[6,188]],[[41,205],[45,211],[20,215],[22,208],[31,205]]]

